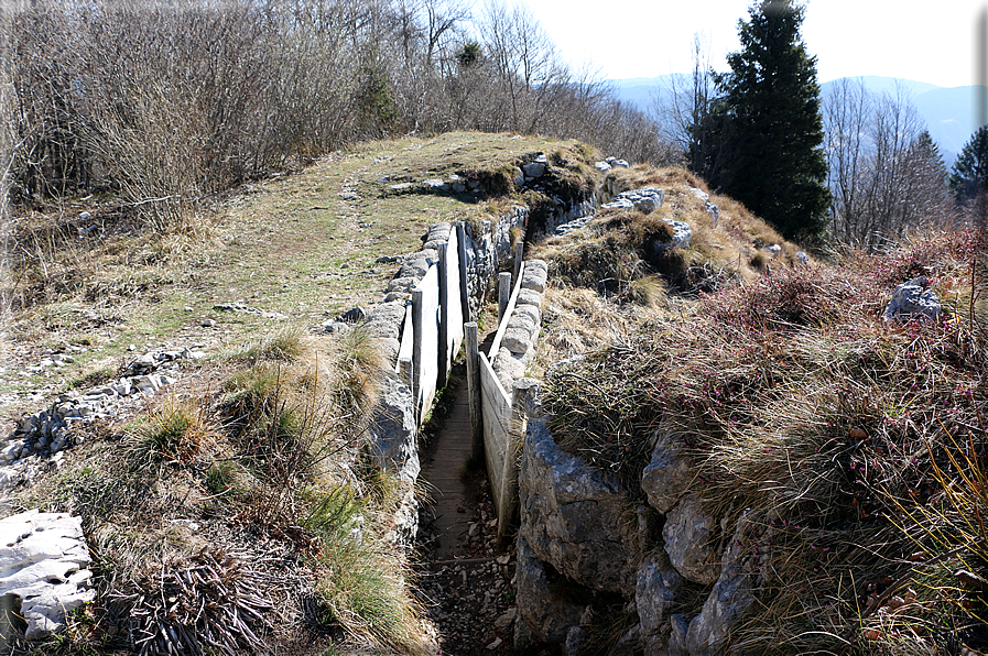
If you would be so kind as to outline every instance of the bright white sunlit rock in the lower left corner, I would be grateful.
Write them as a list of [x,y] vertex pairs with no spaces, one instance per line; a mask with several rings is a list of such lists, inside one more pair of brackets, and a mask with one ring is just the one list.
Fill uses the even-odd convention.
[[33,510],[0,520],[0,595],[20,598],[28,639],[57,631],[65,613],[95,597],[78,517]]

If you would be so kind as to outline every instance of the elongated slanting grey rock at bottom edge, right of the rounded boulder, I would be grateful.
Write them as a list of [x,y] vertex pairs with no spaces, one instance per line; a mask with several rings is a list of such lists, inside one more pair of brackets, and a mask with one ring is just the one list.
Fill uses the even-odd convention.
[[[771,529],[769,523],[759,521],[750,511],[738,520],[724,557],[720,576],[703,611],[690,622],[686,647],[691,656],[715,656],[720,654],[728,636],[743,620],[754,603],[754,592],[759,586],[758,562],[760,554],[770,548]],[[758,545],[758,549],[752,549]]]

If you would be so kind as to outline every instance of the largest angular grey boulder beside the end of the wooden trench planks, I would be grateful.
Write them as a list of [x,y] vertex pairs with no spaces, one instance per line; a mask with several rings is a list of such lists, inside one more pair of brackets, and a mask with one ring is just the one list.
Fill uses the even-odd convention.
[[544,418],[529,422],[519,473],[521,528],[539,558],[588,588],[627,594],[637,526],[617,481],[566,453]]

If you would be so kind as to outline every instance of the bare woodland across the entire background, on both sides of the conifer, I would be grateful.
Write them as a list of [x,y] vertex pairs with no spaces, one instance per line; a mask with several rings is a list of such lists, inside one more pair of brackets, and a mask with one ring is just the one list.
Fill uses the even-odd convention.
[[[788,237],[875,250],[912,230],[964,220],[986,182],[978,166],[988,153],[968,152],[968,163],[977,161],[948,184],[937,145],[904,95],[876,96],[848,83],[822,103],[815,57],[803,51],[804,79],[793,89],[807,94],[817,118],[792,125],[808,131],[812,156],[824,158],[807,171],[826,188],[800,210],[814,215],[813,230],[785,229],[788,219],[774,217],[770,205],[803,208],[796,187],[749,193],[758,171],[778,166],[762,155],[751,160],[737,140],[738,98],[758,96],[756,87],[740,86],[740,68],[713,70],[697,45],[692,80],[676,90],[672,111],[642,112],[593,69],[568,65],[524,4],[475,4],[7,3],[0,10],[4,200],[105,190],[164,227],[210,195],[356,141],[510,131],[580,139],[632,162],[682,164]],[[801,4],[762,4],[789,8],[784,50],[770,56],[791,66],[784,53],[802,48]],[[757,32],[757,9],[742,34]],[[732,56],[740,63],[743,55]],[[767,144],[756,152],[789,149],[778,132]],[[730,166],[735,173],[726,175]],[[757,198],[769,192],[775,200],[760,206]]]

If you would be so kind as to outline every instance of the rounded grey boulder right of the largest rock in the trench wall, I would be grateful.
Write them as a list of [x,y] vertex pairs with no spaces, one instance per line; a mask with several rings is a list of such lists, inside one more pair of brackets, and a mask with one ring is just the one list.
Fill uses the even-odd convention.
[[672,566],[684,578],[710,584],[720,575],[720,564],[710,547],[717,523],[696,494],[684,496],[665,516],[662,537]]

